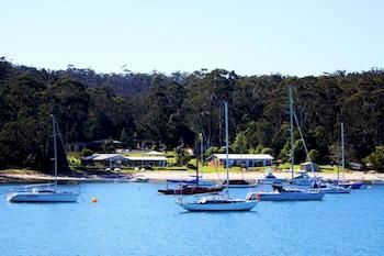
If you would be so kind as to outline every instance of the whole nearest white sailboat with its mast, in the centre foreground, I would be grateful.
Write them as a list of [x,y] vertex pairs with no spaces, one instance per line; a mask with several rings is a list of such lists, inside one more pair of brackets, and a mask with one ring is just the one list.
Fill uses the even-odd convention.
[[226,141],[226,190],[223,194],[203,197],[195,202],[183,202],[182,198],[177,203],[188,211],[250,211],[258,201],[248,199],[238,199],[229,197],[229,169],[228,169],[228,103],[225,107],[225,141]]

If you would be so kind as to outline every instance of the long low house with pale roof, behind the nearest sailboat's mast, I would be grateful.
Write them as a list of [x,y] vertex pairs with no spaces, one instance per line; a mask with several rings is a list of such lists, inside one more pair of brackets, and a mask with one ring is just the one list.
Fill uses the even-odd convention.
[[[208,158],[208,166],[225,167],[226,154],[213,154]],[[273,157],[269,154],[228,154],[229,167],[259,167],[271,166]]]

